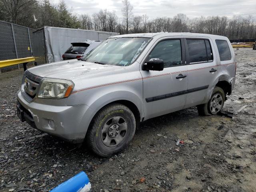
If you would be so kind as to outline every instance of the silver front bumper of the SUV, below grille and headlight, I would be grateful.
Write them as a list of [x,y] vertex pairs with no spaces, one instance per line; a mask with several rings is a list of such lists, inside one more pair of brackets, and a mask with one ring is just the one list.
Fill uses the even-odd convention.
[[[21,92],[17,94],[18,106],[24,113],[24,120],[43,132],[60,137],[73,143],[83,142],[87,128],[83,126],[84,114],[89,107],[86,105],[53,106],[39,102],[29,103]],[[54,126],[49,123],[54,122]]]

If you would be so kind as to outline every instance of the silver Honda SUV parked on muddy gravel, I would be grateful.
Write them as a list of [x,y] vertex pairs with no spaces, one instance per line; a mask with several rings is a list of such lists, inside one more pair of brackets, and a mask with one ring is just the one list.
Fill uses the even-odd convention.
[[217,114],[235,84],[228,38],[209,34],[112,36],[79,60],[26,70],[17,113],[31,126],[112,156],[140,122],[197,106]]

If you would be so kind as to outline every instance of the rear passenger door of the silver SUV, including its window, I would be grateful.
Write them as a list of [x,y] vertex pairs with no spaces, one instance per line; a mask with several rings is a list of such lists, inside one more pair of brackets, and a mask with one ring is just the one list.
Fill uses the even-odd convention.
[[186,38],[188,94],[186,108],[208,102],[218,82],[218,65],[210,38]]

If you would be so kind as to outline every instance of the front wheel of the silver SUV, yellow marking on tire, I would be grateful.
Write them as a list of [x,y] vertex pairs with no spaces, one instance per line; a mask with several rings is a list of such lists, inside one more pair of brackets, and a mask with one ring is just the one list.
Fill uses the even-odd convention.
[[86,142],[95,154],[109,157],[122,152],[130,144],[135,130],[132,111],[122,104],[110,104],[92,120]]

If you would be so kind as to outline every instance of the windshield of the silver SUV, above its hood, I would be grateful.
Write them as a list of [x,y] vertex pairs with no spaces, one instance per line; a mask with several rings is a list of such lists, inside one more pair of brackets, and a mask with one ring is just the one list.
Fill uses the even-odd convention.
[[110,38],[85,55],[82,60],[128,66],[136,60],[149,40],[150,38]]

